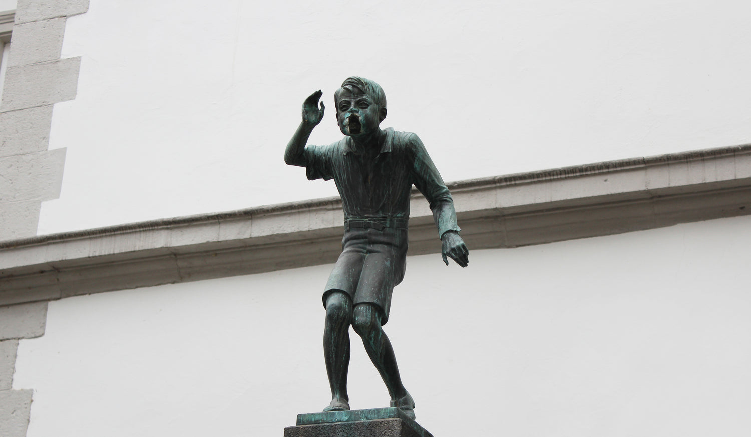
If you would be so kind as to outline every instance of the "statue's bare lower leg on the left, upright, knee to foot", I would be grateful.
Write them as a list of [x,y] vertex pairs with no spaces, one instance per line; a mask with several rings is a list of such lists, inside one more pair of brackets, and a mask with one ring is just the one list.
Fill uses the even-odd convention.
[[324,359],[331,386],[331,403],[324,412],[349,410],[347,371],[349,367],[349,325],[352,300],[344,292],[331,292],[326,299]]

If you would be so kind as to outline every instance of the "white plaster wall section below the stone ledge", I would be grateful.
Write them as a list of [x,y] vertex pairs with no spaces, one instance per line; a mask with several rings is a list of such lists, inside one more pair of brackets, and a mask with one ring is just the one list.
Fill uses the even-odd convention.
[[[745,437],[751,217],[409,259],[386,325],[436,436]],[[281,436],[327,405],[330,266],[50,302],[29,437]],[[493,285],[495,284],[495,285]],[[355,409],[388,394],[353,334]]]

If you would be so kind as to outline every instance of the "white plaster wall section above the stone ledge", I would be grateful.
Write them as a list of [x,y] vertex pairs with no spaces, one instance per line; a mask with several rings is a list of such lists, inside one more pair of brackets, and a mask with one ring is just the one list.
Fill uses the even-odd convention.
[[91,0],[39,233],[335,195],[282,151],[319,88],[312,142],[340,138],[351,75],[447,181],[749,142],[749,19],[746,0]]

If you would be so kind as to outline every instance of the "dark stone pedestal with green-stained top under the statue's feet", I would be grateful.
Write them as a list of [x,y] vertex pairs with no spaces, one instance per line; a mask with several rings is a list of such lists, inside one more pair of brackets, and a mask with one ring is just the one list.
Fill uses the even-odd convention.
[[284,437],[433,437],[397,408],[297,415]]

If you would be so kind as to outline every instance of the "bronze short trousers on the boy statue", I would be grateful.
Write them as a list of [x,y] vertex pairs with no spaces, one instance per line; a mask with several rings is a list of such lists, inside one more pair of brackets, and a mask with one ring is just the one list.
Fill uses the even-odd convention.
[[391,293],[404,279],[406,270],[406,223],[406,219],[401,218],[388,219],[388,222],[357,219],[345,222],[342,254],[326,284],[324,307],[331,292],[341,291],[355,306],[374,304],[378,307],[381,325],[386,325]]

